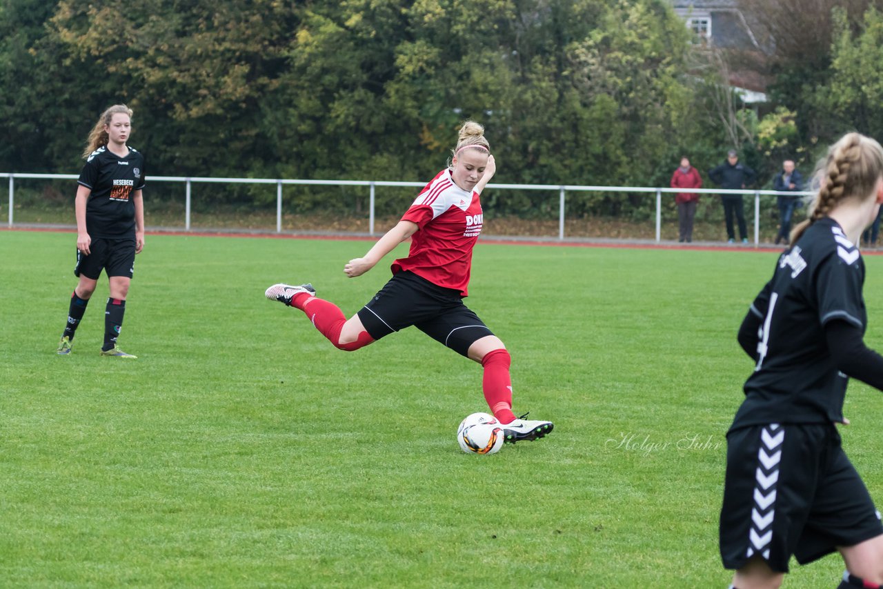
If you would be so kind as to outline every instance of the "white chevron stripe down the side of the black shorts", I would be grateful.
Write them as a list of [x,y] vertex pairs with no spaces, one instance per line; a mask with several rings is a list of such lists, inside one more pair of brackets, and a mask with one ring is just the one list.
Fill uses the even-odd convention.
[[778,423],[771,423],[760,430],[758,469],[755,472],[754,482],[754,505],[751,508],[751,529],[749,531],[748,553],[746,554],[748,557],[762,555],[767,560],[770,557],[776,487],[779,483],[779,465],[781,464],[781,449],[784,441],[785,429]]

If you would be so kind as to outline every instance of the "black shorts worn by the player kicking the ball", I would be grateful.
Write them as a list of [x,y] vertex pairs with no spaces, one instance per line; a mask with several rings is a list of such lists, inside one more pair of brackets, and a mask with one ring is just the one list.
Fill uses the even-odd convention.
[[494,335],[463,304],[459,291],[436,286],[407,270],[393,276],[359,309],[358,318],[374,339],[413,325],[464,356],[477,340]]

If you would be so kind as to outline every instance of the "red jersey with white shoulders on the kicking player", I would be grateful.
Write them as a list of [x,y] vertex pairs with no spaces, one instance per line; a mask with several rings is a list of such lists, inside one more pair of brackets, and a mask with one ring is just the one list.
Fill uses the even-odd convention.
[[472,248],[481,233],[479,194],[454,184],[450,171],[438,173],[420,191],[403,221],[417,223],[407,258],[392,263],[392,273],[411,270],[417,276],[467,296]]

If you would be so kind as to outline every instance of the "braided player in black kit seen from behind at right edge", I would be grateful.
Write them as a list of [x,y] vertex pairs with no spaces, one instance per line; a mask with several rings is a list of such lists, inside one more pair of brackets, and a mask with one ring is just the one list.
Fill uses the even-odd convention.
[[739,344],[756,362],[727,434],[721,558],[734,587],[778,587],[840,552],[840,589],[883,584],[883,525],[841,448],[848,377],[883,389],[864,346],[864,261],[856,244],[883,203],[883,148],[849,133],[830,148],[810,218],[751,304]]

